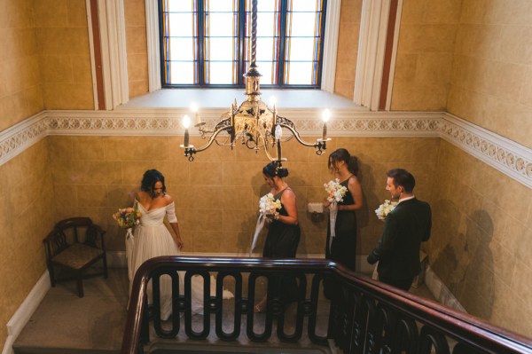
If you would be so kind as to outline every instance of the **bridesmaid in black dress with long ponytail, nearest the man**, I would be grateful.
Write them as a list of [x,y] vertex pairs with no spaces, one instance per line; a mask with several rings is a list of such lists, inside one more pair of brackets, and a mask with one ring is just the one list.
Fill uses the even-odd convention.
[[[358,161],[348,150],[340,148],[329,155],[329,169],[334,178],[340,179],[340,185],[348,188],[343,201],[338,203],[338,213],[334,231],[336,236],[331,239],[331,224],[327,227],[327,243],[325,257],[347,266],[355,271],[356,264],[356,215],[355,210],[363,207],[362,187],[356,178]],[[329,203],[325,203],[329,207]],[[331,247],[329,247],[331,245]]]

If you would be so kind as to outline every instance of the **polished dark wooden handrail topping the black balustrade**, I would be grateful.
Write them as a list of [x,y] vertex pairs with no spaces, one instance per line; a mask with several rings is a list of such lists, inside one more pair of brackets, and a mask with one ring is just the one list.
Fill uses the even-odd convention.
[[[341,264],[324,259],[269,259],[269,258],[230,258],[230,257],[190,257],[160,256],[142,264],[133,281],[126,319],[122,354],[137,354],[141,334],[146,298],[146,287],[150,274],[161,268],[172,271],[193,271],[198,268],[207,271],[305,271],[306,273],[335,274],[342,282],[359,288],[365,295],[379,303],[417,319],[427,326],[434,327],[444,335],[463,342],[479,352],[532,354],[532,340],[524,335],[494,326],[463,312],[452,310],[439,303],[387,286],[364,275],[349,271]],[[140,351],[139,351],[140,350]]]

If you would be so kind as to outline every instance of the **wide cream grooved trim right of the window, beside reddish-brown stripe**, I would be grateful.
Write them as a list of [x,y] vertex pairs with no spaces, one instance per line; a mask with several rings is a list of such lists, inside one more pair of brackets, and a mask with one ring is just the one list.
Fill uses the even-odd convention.
[[362,4],[353,101],[372,111],[379,109],[389,11],[390,0],[364,0]]

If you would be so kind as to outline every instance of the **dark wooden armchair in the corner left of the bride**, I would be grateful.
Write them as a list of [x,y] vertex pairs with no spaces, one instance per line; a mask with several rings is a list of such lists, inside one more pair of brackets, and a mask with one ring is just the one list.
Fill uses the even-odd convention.
[[[75,279],[78,296],[83,297],[82,279],[99,275],[107,278],[105,233],[89,217],[59,221],[43,240],[51,286]],[[98,261],[102,261],[102,269],[91,267]]]

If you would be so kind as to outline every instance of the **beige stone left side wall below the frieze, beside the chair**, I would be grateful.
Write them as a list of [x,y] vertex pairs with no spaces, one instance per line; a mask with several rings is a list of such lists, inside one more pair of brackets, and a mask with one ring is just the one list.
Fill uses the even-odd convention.
[[46,269],[43,238],[55,222],[47,142],[0,166],[0,342],[12,318]]

